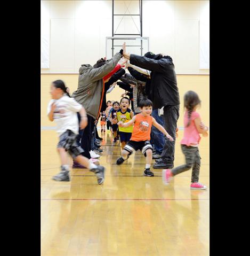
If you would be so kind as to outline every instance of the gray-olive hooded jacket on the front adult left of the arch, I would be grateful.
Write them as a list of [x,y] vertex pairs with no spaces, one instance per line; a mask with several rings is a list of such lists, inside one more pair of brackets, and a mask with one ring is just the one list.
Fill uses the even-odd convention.
[[117,52],[99,68],[93,68],[90,64],[84,64],[79,68],[78,87],[72,97],[82,104],[92,118],[98,118],[102,105],[104,86],[103,77],[109,74],[116,66],[122,55]]

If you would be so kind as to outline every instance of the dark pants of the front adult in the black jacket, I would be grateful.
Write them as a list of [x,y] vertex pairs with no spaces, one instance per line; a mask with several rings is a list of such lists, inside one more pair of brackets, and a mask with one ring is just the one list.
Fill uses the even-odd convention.
[[163,120],[164,120],[164,128],[168,134],[170,134],[174,141],[170,141],[165,137],[164,148],[162,152],[162,161],[167,165],[174,164],[174,147],[175,147],[175,139],[176,139],[176,127],[177,120],[179,118],[180,105],[174,106],[165,106],[163,108]]

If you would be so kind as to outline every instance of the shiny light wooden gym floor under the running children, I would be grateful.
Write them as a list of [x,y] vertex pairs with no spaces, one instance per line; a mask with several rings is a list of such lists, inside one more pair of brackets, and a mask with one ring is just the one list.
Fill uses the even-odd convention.
[[[179,137],[175,166],[183,164]],[[99,130],[99,135],[101,132]],[[87,169],[73,169],[70,182],[57,182],[60,161],[54,130],[41,131],[42,256],[206,256],[209,255],[209,138],[200,142],[200,182],[190,190],[191,170],[175,176],[168,187],[162,170],[142,176],[145,160],[136,152],[122,166],[118,143],[106,132],[100,164],[106,179],[98,185]],[[154,160],[153,160],[154,162]]]

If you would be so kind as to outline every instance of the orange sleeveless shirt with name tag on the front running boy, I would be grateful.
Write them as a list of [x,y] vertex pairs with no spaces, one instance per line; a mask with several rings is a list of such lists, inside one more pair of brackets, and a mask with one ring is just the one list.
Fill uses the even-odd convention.
[[134,128],[132,131],[131,141],[149,141],[150,132],[152,127],[152,117],[148,115],[137,114],[135,115]]

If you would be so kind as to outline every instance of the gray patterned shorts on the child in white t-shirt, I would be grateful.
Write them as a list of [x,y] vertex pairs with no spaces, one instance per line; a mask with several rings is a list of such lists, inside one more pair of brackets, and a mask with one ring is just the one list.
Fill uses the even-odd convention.
[[72,158],[76,158],[79,154],[82,154],[84,150],[76,143],[77,134],[74,134],[71,130],[64,131],[59,137],[58,148],[64,148]]

